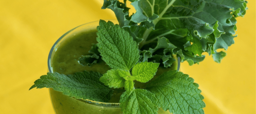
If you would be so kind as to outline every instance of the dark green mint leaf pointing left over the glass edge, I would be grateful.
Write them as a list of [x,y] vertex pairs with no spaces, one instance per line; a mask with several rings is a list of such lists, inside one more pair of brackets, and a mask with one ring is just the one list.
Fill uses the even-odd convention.
[[107,102],[113,91],[99,81],[101,76],[100,73],[92,71],[77,72],[73,75],[47,73],[47,75],[43,75],[36,80],[29,90],[34,87],[53,88],[64,95],[77,99]]

